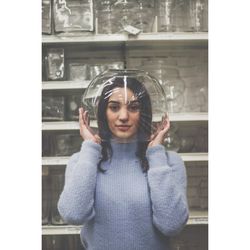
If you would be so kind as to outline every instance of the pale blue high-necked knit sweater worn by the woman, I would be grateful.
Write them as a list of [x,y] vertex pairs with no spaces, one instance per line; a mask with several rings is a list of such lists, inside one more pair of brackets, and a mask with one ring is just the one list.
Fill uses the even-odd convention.
[[58,209],[69,224],[82,225],[88,250],[166,250],[169,236],[188,219],[183,161],[162,145],[147,149],[147,173],[135,156],[137,143],[111,143],[111,161],[97,164],[101,146],[84,141],[65,172]]

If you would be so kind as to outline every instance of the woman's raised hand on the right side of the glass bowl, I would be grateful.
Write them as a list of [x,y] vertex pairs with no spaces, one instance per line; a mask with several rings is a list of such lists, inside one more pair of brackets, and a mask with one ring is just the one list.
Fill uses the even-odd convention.
[[153,147],[158,144],[162,144],[169,129],[170,129],[170,121],[168,119],[168,116],[165,115],[162,118],[162,122],[158,126],[156,132],[151,136],[148,147]]

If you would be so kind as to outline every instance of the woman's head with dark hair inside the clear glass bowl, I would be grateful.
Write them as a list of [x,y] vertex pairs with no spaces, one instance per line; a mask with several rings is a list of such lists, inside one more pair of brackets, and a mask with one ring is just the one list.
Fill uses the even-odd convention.
[[97,120],[99,135],[148,141],[151,134],[152,108],[144,85],[129,76],[116,77],[100,96]]

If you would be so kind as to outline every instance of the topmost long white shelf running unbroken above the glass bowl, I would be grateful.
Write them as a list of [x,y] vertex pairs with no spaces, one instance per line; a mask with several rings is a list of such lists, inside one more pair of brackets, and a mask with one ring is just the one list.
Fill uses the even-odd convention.
[[105,43],[114,44],[124,42],[167,42],[167,41],[207,41],[207,32],[158,32],[158,33],[141,33],[138,36],[128,34],[93,34],[93,33],[64,33],[59,35],[43,35],[43,44],[60,44],[60,43]]

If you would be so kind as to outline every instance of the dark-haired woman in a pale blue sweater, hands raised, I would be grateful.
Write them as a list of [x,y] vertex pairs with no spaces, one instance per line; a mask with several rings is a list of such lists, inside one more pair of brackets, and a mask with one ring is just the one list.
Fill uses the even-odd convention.
[[151,135],[149,94],[135,78],[117,77],[102,91],[97,118],[99,135],[79,109],[84,141],[66,168],[61,216],[83,225],[88,250],[169,249],[169,236],[188,220],[188,204],[183,161],[161,145],[168,117]]

